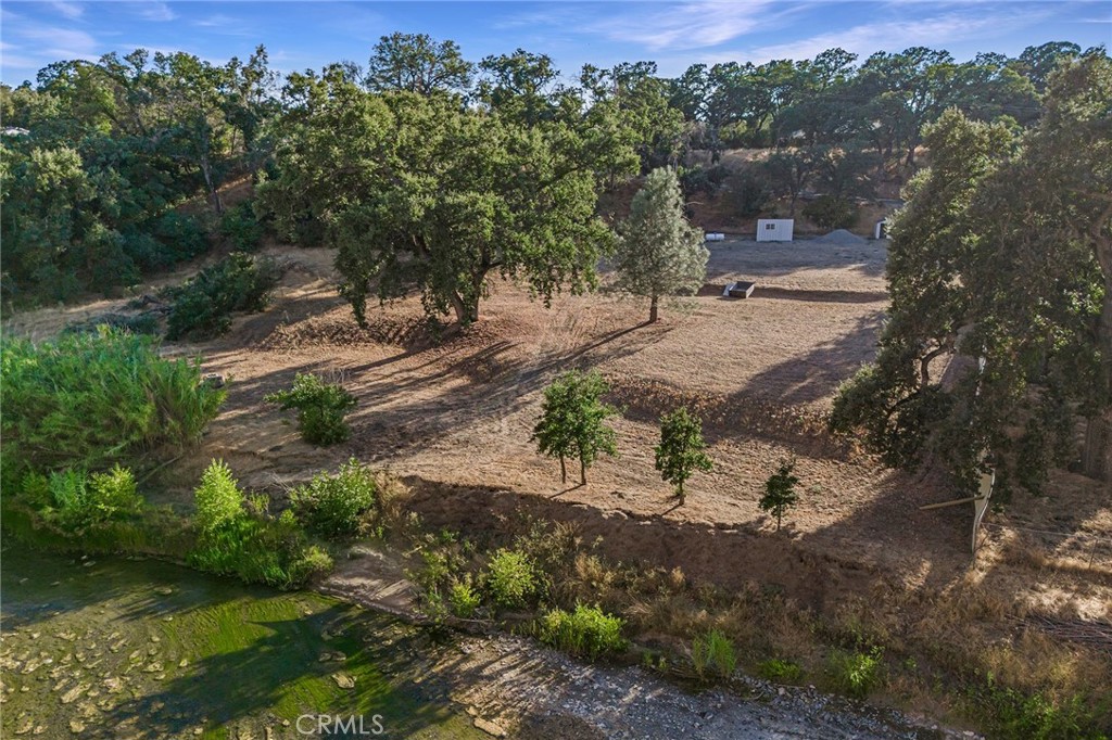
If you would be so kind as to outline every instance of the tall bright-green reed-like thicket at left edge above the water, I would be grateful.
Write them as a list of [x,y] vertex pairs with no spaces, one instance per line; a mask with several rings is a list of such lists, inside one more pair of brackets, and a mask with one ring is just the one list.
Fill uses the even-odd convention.
[[195,441],[225,392],[200,364],[159,357],[157,340],[102,328],[39,343],[9,338],[3,377],[3,487],[24,473],[135,466]]

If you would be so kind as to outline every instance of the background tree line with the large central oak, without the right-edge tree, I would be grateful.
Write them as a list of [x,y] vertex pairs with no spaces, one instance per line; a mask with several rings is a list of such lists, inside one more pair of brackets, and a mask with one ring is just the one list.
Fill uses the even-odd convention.
[[[261,47],[226,64],[143,50],[61,61],[34,84],[0,88],[3,298],[110,290],[198,253],[203,229],[176,207],[203,196],[219,214],[221,184],[267,164],[261,210],[285,234],[341,247],[357,310],[417,284],[430,311],[468,321],[493,272],[525,274],[543,297],[589,287],[610,244],[595,197],[638,169],[679,166],[692,148],[717,158],[772,147],[759,177],[742,183],[742,210],[778,194],[794,213],[805,188],[868,194],[871,173],[915,163],[923,126],[947,108],[1033,124],[1051,71],[1079,56],[1065,42],[969,62],[914,48],[858,64],[832,49],[695,64],[675,79],[648,61],[568,78],[523,49],[476,63],[451,41],[394,33],[366,64],[285,84]],[[689,171],[684,182],[708,180]]]

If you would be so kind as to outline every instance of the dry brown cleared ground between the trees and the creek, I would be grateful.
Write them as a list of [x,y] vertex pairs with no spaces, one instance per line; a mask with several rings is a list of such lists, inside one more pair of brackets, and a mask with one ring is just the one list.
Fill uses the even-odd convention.
[[[523,287],[495,282],[480,321],[439,338],[416,297],[369,311],[359,328],[335,291],[328,250],[266,252],[290,266],[266,312],[237,318],[219,340],[167,346],[202,353],[207,372],[231,381],[200,448],[163,474],[171,502],[187,504],[211,458],[280,499],[356,457],[403,478],[434,527],[483,532],[522,513],[575,522],[616,560],[679,568],[731,590],[756,582],[835,620],[867,610],[890,642],[903,634],[983,650],[981,664],[1021,683],[1043,664],[1065,677],[1061,688],[1083,688],[1110,664],[1099,646],[1085,652],[1060,639],[1079,619],[1112,616],[1106,488],[1055,473],[1045,498],[1021,493],[990,513],[971,563],[972,507],[920,510],[962,496],[943,476],[885,469],[853,440],[826,434],[838,383],[874,352],[884,242],[715,243],[704,290],[665,307],[654,326],[644,323],[647,306],[605,290],[546,308]],[[734,279],[756,281],[752,298],[721,297]],[[120,303],[39,310],[8,329],[43,336]],[[558,464],[529,439],[542,390],[572,368],[599,370],[622,409],[620,457],[600,460],[584,487],[562,486]],[[349,442],[314,448],[262,401],[308,371],[358,398]],[[704,419],[715,463],[688,482],[683,507],[653,466],[658,417],[679,403]],[[757,499],[790,456],[801,502],[774,532]],[[1016,658],[1007,646],[1024,650]]]

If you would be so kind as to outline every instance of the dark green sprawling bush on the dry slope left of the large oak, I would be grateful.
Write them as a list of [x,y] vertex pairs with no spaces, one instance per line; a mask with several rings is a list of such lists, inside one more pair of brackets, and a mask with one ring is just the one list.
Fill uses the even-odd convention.
[[261,311],[281,270],[270,259],[236,252],[166,291],[172,301],[167,339],[210,339],[231,327],[234,311]]

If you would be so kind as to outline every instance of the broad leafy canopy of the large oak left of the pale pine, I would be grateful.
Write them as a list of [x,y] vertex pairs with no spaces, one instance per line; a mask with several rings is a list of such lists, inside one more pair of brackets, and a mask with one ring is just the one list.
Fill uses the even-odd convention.
[[[291,83],[292,84],[292,83]],[[619,137],[585,119],[529,126],[446,97],[371,96],[340,73],[306,77],[259,187],[284,234],[306,219],[338,248],[356,317],[368,298],[417,288],[430,316],[478,318],[489,274],[549,300],[595,282],[610,232],[596,217],[596,167]]]

